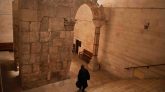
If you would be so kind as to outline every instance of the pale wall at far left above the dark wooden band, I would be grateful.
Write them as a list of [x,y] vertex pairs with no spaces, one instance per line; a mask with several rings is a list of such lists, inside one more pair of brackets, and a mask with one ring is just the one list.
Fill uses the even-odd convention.
[[0,42],[13,42],[12,0],[0,0]]

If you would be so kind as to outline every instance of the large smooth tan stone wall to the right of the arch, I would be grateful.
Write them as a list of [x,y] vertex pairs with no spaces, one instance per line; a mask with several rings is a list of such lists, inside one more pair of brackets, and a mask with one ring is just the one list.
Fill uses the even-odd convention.
[[[103,69],[128,78],[134,76],[133,70],[124,68],[165,63],[164,0],[103,0],[102,4],[108,20],[101,30],[98,55]],[[139,72],[147,78],[164,77],[164,68]]]

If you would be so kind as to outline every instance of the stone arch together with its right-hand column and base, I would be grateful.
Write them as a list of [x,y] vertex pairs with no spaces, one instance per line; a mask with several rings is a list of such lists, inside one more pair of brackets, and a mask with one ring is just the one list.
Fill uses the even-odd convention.
[[93,15],[93,23],[95,25],[95,36],[94,36],[94,43],[93,43],[93,57],[91,59],[91,62],[89,64],[89,68],[93,71],[96,71],[100,68],[100,65],[98,63],[97,55],[98,55],[98,49],[99,49],[99,39],[100,39],[100,28],[105,21],[104,12],[103,12],[103,6],[97,3],[97,0],[76,0],[75,1],[75,7],[74,7],[74,13],[73,18],[75,19],[78,9],[86,4],[89,6],[89,8],[92,11]]

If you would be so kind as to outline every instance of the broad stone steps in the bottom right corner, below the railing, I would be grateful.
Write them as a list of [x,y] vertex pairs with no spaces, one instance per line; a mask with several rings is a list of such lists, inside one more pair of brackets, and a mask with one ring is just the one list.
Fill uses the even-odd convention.
[[165,79],[119,80],[91,88],[88,92],[165,92]]

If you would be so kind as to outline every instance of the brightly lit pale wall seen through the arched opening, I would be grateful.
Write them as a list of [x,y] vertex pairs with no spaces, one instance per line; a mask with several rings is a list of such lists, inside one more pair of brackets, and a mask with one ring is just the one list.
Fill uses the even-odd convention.
[[[76,24],[74,27],[74,44],[76,47],[81,45],[78,48],[78,52],[81,52],[83,49],[92,52],[95,25],[92,22],[93,15],[90,7],[86,4],[83,4],[77,11],[75,19]],[[81,42],[80,45],[76,44],[78,41]]]

